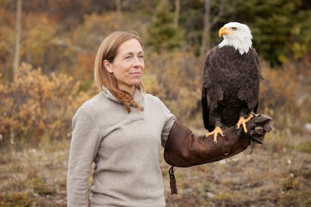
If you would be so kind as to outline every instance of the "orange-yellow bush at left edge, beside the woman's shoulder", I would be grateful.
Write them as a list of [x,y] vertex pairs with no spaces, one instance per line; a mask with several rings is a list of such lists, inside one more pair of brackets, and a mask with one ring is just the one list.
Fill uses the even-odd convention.
[[[65,74],[42,74],[22,64],[14,81],[0,83],[0,134],[4,142],[14,138],[40,141],[44,134],[51,139],[71,132],[75,110],[91,97],[79,92],[80,82]],[[13,140],[14,143],[14,140]]]

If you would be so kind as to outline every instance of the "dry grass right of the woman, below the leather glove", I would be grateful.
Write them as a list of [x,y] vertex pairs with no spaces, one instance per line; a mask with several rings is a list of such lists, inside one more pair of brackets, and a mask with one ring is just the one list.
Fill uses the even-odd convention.
[[[307,136],[284,136],[274,130],[252,155],[247,149],[238,161],[176,168],[178,195],[170,195],[165,172],[167,205],[310,207],[311,145],[307,140]],[[168,170],[164,162],[161,167]]]

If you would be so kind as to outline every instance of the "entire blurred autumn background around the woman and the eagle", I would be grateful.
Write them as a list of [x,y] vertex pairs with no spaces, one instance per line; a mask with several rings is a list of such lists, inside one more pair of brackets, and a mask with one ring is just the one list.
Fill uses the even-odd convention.
[[139,32],[147,93],[206,133],[202,67],[230,21],[252,31],[274,128],[238,161],[176,168],[178,195],[162,157],[167,206],[310,207],[310,0],[0,0],[0,206],[66,206],[71,120],[111,32]]

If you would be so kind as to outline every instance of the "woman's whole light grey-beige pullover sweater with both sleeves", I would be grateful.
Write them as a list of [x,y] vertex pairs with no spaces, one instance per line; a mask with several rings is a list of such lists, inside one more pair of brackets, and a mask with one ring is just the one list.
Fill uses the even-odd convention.
[[159,98],[135,89],[143,111],[127,113],[111,92],[87,100],[72,118],[67,176],[68,207],[87,207],[90,166],[95,162],[92,207],[164,207],[161,145],[176,120]]

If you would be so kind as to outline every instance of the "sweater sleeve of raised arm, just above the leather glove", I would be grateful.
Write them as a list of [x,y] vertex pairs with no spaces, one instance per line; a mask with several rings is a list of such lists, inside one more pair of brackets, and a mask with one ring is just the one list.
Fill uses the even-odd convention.
[[165,148],[167,138],[170,134],[171,128],[176,121],[176,117],[171,113],[171,111],[162,103],[161,101],[162,111],[165,117],[165,124],[161,133],[161,145]]

